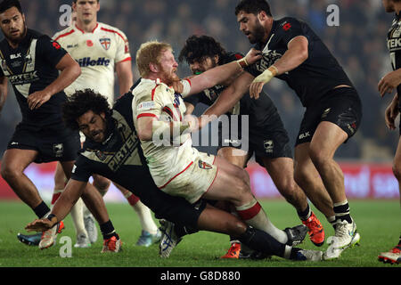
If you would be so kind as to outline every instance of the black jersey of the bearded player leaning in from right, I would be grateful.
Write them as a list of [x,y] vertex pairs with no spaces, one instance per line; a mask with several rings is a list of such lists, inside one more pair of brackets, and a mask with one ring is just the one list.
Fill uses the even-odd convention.
[[273,21],[267,42],[255,45],[263,52],[263,58],[246,70],[257,77],[279,60],[288,50],[291,39],[298,36],[307,37],[307,61],[277,77],[287,82],[304,107],[312,105],[337,85],[353,86],[339,62],[307,23],[291,17]]

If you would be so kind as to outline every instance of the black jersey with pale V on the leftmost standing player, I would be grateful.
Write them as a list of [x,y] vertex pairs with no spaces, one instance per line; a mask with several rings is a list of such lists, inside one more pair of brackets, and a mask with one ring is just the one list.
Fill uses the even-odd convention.
[[0,77],[7,77],[17,97],[22,123],[40,130],[42,126],[62,123],[64,92],[53,94],[37,110],[29,110],[28,96],[45,89],[57,77],[55,66],[67,52],[50,37],[28,29],[26,37],[13,49],[4,38],[0,42]]

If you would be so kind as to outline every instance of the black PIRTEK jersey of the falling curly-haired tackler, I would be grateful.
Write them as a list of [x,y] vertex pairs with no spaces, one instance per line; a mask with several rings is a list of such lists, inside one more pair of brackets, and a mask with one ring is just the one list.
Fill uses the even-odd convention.
[[131,93],[127,93],[115,102],[111,116],[106,117],[105,142],[86,138],[75,163],[73,179],[87,182],[91,175],[98,174],[129,189],[135,179],[149,173],[135,132],[133,98]]

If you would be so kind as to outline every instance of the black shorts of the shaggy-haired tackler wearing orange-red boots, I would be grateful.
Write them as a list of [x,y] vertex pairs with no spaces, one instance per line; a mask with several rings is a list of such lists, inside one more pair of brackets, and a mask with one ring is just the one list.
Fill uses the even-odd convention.
[[[242,126],[241,118],[233,119],[233,116],[230,118],[230,127],[223,127],[223,124],[218,126],[217,151],[224,147],[233,147],[248,152],[249,157],[255,153],[255,159],[261,167],[265,167],[263,163],[265,158],[292,159],[290,138],[278,113],[272,115],[265,125],[255,125],[250,121],[249,126]],[[236,122],[238,128],[233,130],[232,125]]]

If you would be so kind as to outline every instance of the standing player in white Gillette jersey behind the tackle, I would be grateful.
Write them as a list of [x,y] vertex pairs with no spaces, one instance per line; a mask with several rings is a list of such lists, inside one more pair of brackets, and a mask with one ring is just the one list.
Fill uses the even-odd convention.
[[[82,69],[81,76],[64,91],[70,95],[76,90],[90,88],[106,96],[112,106],[115,100],[115,72],[119,81],[119,94],[126,94],[133,85],[127,37],[118,28],[97,21],[99,0],[73,0],[72,9],[75,21],[71,22],[70,27],[53,36],[53,40],[60,43],[71,57],[78,61]],[[82,134],[81,141],[85,141],[85,136]],[[104,195],[110,187],[110,180],[100,175],[94,175],[93,178],[94,186]],[[52,204],[61,195],[65,183],[65,175],[61,171],[60,164],[57,164]],[[159,241],[160,232],[151,217],[150,209],[130,191],[116,183],[115,185],[135,209],[141,222],[143,231],[136,244],[149,247]],[[71,217],[77,230],[75,245],[77,248],[87,248],[97,240],[94,216],[84,206],[83,201],[79,199],[71,210]]]

